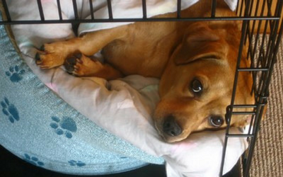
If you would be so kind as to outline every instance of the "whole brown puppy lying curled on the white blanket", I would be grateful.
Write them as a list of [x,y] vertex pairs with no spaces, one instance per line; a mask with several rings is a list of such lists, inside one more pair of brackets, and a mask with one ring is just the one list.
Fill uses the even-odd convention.
[[[210,3],[199,1],[181,14],[207,16]],[[216,16],[234,16],[223,1],[217,5]],[[173,16],[176,14],[159,17]],[[45,44],[35,58],[42,69],[67,63],[69,72],[76,76],[117,79],[140,74],[160,78],[161,101],[154,122],[167,142],[176,142],[191,132],[226,127],[224,115],[231,102],[239,28],[236,21],[133,23]],[[107,63],[87,57],[101,49]],[[241,67],[248,67],[243,58]],[[250,74],[241,72],[236,104],[253,103],[251,84]],[[231,125],[243,126],[246,121],[245,116],[237,116]]]

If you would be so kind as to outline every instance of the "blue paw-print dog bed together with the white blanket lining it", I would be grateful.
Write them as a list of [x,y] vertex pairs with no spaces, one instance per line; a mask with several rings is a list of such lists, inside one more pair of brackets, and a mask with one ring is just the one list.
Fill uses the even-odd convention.
[[[13,2],[8,3],[13,20],[39,18],[36,3],[8,2]],[[85,2],[77,1],[81,18],[89,15],[83,10]],[[162,2],[168,5],[168,1],[155,2],[152,9]],[[71,1],[64,3],[64,18],[74,18]],[[158,13],[175,11],[171,5]],[[46,19],[58,18],[56,1],[42,1],[42,6]],[[96,13],[105,8],[99,7]],[[12,29],[20,53],[0,26],[0,144],[13,154],[42,168],[71,174],[119,173],[165,163],[168,177],[219,175],[225,130],[192,134],[174,144],[158,136],[151,120],[159,99],[158,79],[136,75],[108,82],[76,78],[62,68],[42,71],[33,59],[35,48],[74,37],[71,25],[13,25]],[[79,27],[79,33],[91,30],[98,28]],[[224,173],[246,148],[246,139],[229,139]]]

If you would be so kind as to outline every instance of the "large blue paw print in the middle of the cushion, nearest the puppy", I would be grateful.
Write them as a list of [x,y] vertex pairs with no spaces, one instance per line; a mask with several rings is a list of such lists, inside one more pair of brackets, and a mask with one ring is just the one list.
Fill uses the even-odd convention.
[[57,135],[65,135],[67,138],[73,137],[71,132],[76,132],[76,122],[68,117],[63,117],[62,120],[56,116],[52,117],[52,122],[50,127],[54,128]]

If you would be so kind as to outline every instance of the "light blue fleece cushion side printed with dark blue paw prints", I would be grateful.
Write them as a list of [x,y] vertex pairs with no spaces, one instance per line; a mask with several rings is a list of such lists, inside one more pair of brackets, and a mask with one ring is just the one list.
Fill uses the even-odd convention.
[[[1,14],[0,14],[1,18]],[[0,25],[0,144],[52,171],[99,175],[163,164],[98,127],[48,89]]]

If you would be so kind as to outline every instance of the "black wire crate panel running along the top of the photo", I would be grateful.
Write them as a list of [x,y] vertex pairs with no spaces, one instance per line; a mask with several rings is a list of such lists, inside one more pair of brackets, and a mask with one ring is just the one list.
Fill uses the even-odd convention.
[[[143,16],[141,18],[115,18],[112,13],[112,3],[111,0],[105,0],[105,3],[108,6],[108,18],[96,18],[96,16],[93,16],[93,3],[90,0],[89,1],[89,11],[91,12],[91,18],[90,19],[81,19],[79,18],[78,8],[76,6],[76,0],[72,0],[73,4],[73,13],[74,13],[74,19],[64,19],[62,18],[62,3],[60,3],[60,0],[57,0],[57,7],[58,7],[58,19],[46,19],[45,14],[42,8],[42,2],[40,0],[33,0],[35,3],[37,3],[38,6],[38,12],[40,18],[38,20],[22,20],[22,21],[13,21],[11,19],[11,16],[8,11],[8,6],[6,3],[6,0],[1,0],[2,4],[5,8],[6,12],[6,20],[0,21],[0,24],[37,24],[37,23],[110,23],[110,22],[137,22],[137,21],[262,21],[262,20],[275,20],[279,21],[279,16],[277,16],[277,13],[279,13],[279,10],[281,9],[280,6],[277,7],[276,11],[277,13],[272,13],[271,8],[273,7],[272,4],[276,4],[276,2],[272,1],[265,1],[265,0],[259,0],[259,1],[265,1],[264,3],[261,3],[261,9],[265,9],[265,13],[259,14],[260,6],[257,5],[254,7],[255,3],[253,0],[243,0],[238,1],[238,8],[237,13],[238,16],[216,16],[216,0],[212,0],[211,4],[211,16],[206,17],[195,17],[195,18],[184,18],[181,16],[181,4],[182,0],[176,0],[177,8],[176,8],[176,16],[175,18],[148,18],[147,17],[147,11],[146,11],[146,0],[141,0],[142,4],[142,13]],[[275,0],[276,1],[276,0]],[[280,2],[280,1],[279,1]],[[265,4],[267,4],[265,6]],[[248,6],[247,6],[248,5]],[[280,3],[278,3],[280,5]],[[253,12],[256,12],[253,14]]]

